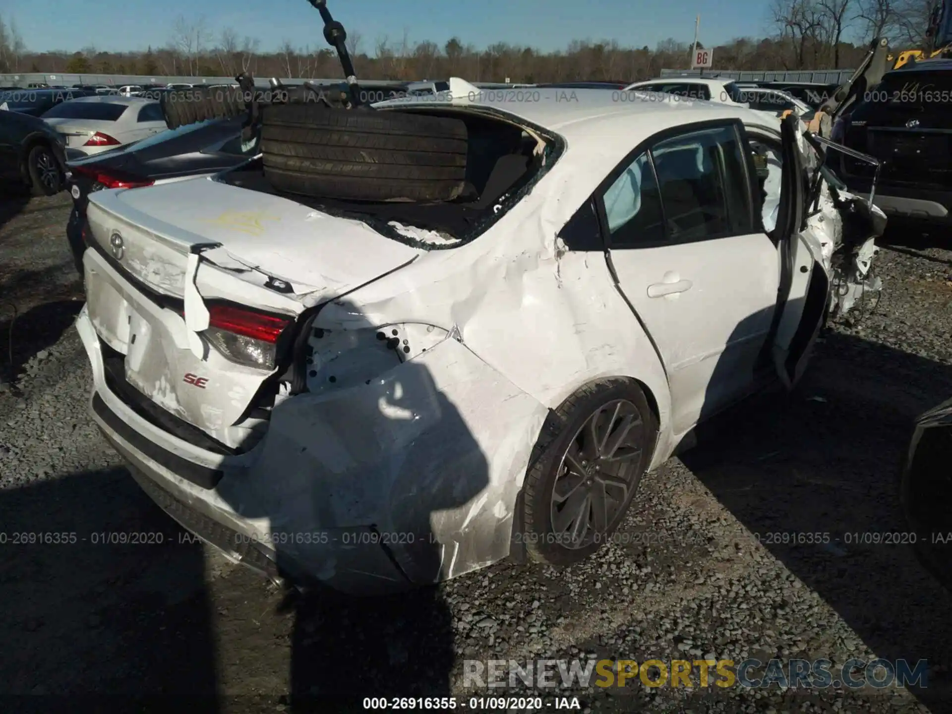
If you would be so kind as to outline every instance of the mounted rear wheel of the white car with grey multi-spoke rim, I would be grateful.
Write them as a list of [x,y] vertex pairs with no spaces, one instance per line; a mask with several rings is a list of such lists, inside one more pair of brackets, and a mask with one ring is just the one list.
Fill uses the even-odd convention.
[[[564,473],[563,471],[564,457],[567,462],[565,453],[573,444],[579,444],[578,439],[583,436],[581,433],[583,427],[587,425],[593,414],[609,405],[613,412],[616,404],[633,407],[633,410],[629,413],[637,414],[637,419],[640,422],[639,424],[633,418],[633,426],[629,431],[632,434],[632,446],[631,450],[626,452],[628,458],[625,463],[628,466],[625,470],[624,479],[627,488],[623,495],[619,486],[612,486],[610,490],[615,495],[611,496],[609,489],[603,485],[602,492],[606,495],[606,499],[611,501],[615,509],[611,514],[608,514],[606,509],[605,527],[600,529],[597,535],[593,534],[590,542],[586,542],[585,538],[580,538],[576,543],[571,544],[571,541],[565,536],[565,530],[553,523],[553,515],[557,509],[557,506],[553,504],[553,493],[557,484],[561,482],[560,477],[572,477],[571,473]],[[625,409],[627,408],[625,407]],[[602,413],[608,414],[609,410],[605,409]],[[601,424],[605,424],[604,417],[602,417],[602,420]],[[596,420],[596,424],[598,423]],[[621,424],[621,422],[618,424]],[[612,428],[616,430],[611,431]],[[607,433],[614,436],[618,433],[618,428],[618,426],[609,425],[607,426]],[[526,545],[528,557],[536,563],[560,566],[572,565],[585,560],[604,545],[607,538],[625,519],[625,513],[638,491],[645,469],[651,463],[657,436],[658,419],[651,407],[648,406],[645,393],[633,380],[622,378],[602,380],[582,387],[566,399],[562,406],[555,411],[554,419],[551,421],[549,428],[544,429],[535,452],[541,455],[526,473],[526,483],[523,486],[522,523],[524,527],[523,542]],[[635,446],[633,445],[635,444],[640,449],[637,454],[634,452]],[[595,468],[594,464],[593,461],[592,465],[586,466],[587,473],[590,476],[587,483],[604,484],[605,482],[602,482],[601,479],[605,477],[607,471],[601,472],[600,475],[596,472],[598,469]],[[617,480],[617,477],[609,476],[607,478]],[[585,483],[579,483],[577,488],[585,489],[586,487],[590,488],[590,486],[585,486]],[[573,494],[577,493],[577,488],[572,490]],[[569,500],[570,498],[565,500],[566,513]],[[607,503],[607,500],[605,503]],[[583,507],[587,513],[587,507]],[[564,514],[558,514],[560,518],[563,516]],[[587,518],[590,518],[590,516],[586,515]],[[571,523],[578,523],[578,519]]]

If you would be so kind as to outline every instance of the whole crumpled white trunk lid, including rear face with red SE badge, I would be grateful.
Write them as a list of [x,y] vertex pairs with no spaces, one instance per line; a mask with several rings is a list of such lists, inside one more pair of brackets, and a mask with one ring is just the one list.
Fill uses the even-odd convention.
[[[189,322],[189,306],[197,300],[201,313],[219,298],[293,319],[421,252],[362,223],[208,179],[97,191],[87,215],[96,248],[84,258],[87,305],[112,350],[110,388],[127,402],[144,395],[232,448],[267,427],[248,407],[270,372],[194,348],[204,327]],[[269,278],[289,288],[268,288]]]

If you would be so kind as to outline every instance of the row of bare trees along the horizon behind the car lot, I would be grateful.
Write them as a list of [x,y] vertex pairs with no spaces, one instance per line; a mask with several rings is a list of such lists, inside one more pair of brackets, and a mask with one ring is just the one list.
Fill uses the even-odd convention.
[[[771,0],[762,38],[738,37],[714,47],[714,69],[848,69],[863,59],[869,41],[890,38],[891,47],[923,47],[935,0]],[[653,49],[625,47],[614,40],[577,40],[565,50],[541,52],[496,43],[479,49],[453,37],[441,47],[399,38],[367,42],[359,31],[347,37],[359,76],[413,80],[462,76],[475,82],[637,81],[661,69],[690,66],[691,45],[668,38]],[[0,17],[0,72],[63,72],[169,76],[255,76],[330,78],[340,75],[327,46],[296,47],[286,40],[276,50],[232,28],[213,30],[206,18],[179,16],[161,48],[108,52],[31,51],[15,23]]]

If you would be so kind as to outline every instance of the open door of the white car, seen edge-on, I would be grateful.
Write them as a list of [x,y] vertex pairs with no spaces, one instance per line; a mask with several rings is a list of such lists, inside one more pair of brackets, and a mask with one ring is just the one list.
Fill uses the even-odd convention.
[[804,218],[809,184],[798,139],[802,129],[797,117],[783,119],[781,203],[775,228],[780,238],[781,283],[773,357],[787,388],[793,388],[803,374],[823,326],[830,292],[821,242],[812,221]]

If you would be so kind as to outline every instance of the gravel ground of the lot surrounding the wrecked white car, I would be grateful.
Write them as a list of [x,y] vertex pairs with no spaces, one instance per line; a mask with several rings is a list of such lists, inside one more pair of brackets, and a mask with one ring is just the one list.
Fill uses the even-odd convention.
[[[0,204],[0,697],[23,697],[5,710],[104,693],[297,710],[291,691],[361,710],[365,696],[513,693],[466,691],[466,658],[577,656],[931,666],[915,691],[564,693],[590,711],[952,710],[952,597],[908,546],[845,535],[902,530],[905,429],[952,394],[952,250],[940,238],[893,231],[879,304],[824,335],[795,393],[724,415],[649,474],[619,542],[595,558],[563,571],[499,564],[366,601],[281,591],[193,543],[133,484],[86,412],[68,212],[65,195]],[[106,532],[161,533],[163,544],[103,545]],[[831,541],[771,536],[790,532]],[[30,544],[17,533],[65,535]]]

